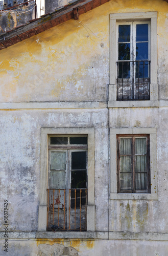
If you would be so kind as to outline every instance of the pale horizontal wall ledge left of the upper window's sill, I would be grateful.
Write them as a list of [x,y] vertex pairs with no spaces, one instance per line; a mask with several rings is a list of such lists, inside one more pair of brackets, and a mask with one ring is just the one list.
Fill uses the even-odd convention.
[[99,109],[107,108],[102,101],[69,102],[0,102],[0,110],[10,109]]

